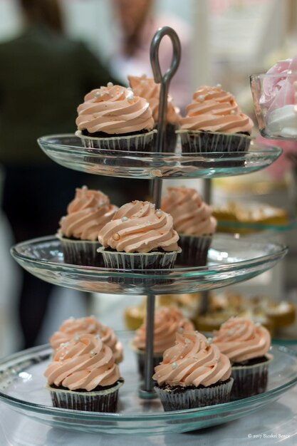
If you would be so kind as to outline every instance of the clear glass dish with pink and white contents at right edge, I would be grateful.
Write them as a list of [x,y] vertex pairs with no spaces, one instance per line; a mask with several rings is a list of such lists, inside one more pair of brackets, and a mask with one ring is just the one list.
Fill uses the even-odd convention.
[[261,135],[297,141],[297,73],[253,74],[250,81]]

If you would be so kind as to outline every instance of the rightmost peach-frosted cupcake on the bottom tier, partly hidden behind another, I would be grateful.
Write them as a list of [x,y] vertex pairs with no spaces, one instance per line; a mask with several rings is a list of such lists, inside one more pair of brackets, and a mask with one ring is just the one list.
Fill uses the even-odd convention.
[[213,343],[231,361],[233,400],[265,392],[272,360],[268,354],[271,336],[266,328],[249,319],[230,318],[214,331]]

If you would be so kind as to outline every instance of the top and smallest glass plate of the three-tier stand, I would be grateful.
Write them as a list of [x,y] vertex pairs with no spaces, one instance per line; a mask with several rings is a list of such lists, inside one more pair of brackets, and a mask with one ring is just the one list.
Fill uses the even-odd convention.
[[247,152],[123,152],[84,147],[75,135],[38,139],[43,152],[64,167],[95,175],[125,178],[212,178],[242,175],[271,165],[281,149],[251,142]]

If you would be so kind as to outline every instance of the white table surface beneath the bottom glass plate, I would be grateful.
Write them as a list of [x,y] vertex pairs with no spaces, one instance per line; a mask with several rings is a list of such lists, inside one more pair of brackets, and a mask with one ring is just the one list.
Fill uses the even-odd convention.
[[151,437],[84,434],[43,425],[0,404],[1,446],[297,445],[297,386],[266,408],[224,425]]

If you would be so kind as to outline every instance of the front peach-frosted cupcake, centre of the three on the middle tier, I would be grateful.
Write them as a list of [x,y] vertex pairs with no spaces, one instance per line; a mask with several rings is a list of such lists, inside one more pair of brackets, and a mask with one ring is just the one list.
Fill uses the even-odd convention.
[[100,229],[105,266],[116,269],[172,268],[180,248],[170,214],[150,202],[124,204]]

